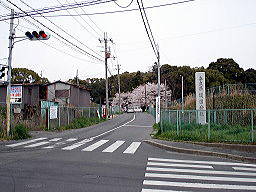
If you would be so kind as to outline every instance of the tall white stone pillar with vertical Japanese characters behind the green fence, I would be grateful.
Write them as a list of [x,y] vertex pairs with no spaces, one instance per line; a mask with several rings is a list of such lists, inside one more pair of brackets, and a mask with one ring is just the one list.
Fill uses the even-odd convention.
[[206,124],[205,72],[196,72],[196,110],[197,123]]

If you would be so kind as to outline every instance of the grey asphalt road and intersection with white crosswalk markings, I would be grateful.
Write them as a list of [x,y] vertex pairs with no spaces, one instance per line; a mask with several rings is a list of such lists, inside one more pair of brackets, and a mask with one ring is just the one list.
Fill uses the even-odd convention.
[[1,142],[0,192],[256,191],[256,165],[143,143],[153,123],[146,113],[124,114],[90,128]]

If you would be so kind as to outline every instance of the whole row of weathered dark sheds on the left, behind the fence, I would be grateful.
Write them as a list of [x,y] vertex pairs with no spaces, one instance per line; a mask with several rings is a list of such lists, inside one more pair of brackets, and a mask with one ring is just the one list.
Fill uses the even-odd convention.
[[[42,84],[13,84],[11,88],[13,108],[41,107],[41,101],[58,103],[59,106],[89,107],[90,91],[71,83],[56,81]],[[0,85],[0,104],[6,103],[7,85]],[[45,102],[44,102],[45,103]]]

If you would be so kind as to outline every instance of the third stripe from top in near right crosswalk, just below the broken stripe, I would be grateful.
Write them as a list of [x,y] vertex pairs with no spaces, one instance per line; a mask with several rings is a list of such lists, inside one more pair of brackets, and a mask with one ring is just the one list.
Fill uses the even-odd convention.
[[252,172],[235,172],[235,171],[213,171],[213,170],[195,170],[195,169],[172,169],[172,168],[159,168],[159,167],[147,167],[147,171],[168,171],[177,173],[200,173],[200,174],[212,174],[212,175],[244,175],[244,176],[256,176],[256,173]]

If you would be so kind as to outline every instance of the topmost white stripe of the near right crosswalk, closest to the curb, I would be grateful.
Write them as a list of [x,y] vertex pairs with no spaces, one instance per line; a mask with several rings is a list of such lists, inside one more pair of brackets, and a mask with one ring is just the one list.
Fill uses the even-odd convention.
[[162,159],[162,158],[148,158],[149,161],[163,161],[163,162],[177,162],[177,163],[197,163],[197,164],[211,164],[211,165],[232,165],[232,166],[247,166],[256,167],[256,164],[219,162],[219,161],[193,161],[193,160],[178,160],[178,159]]

